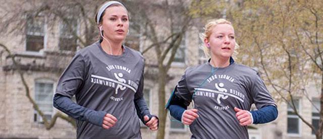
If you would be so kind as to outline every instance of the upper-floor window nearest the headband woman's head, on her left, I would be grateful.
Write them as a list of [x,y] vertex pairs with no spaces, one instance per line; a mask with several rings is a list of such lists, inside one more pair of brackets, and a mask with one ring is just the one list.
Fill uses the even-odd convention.
[[66,19],[60,26],[59,48],[63,51],[76,51],[77,47],[77,20]]

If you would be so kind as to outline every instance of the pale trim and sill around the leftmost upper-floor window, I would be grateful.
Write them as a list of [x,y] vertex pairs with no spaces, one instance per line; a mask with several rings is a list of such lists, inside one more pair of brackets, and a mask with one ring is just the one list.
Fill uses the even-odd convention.
[[[25,50],[24,50],[24,54],[26,55],[36,55],[36,56],[42,56],[43,55],[43,51],[47,49],[47,18],[46,16],[40,14],[39,16],[42,16],[44,18],[44,48],[39,50],[38,52],[34,52],[34,51],[28,51],[27,50],[27,33],[25,34]],[[26,18],[26,22],[28,22],[28,18],[27,16],[25,16]],[[27,23],[26,23],[27,24]]]

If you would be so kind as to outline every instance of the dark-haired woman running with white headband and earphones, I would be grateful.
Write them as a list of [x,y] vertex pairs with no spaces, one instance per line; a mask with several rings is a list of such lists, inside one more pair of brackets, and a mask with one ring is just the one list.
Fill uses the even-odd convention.
[[158,118],[143,98],[143,57],[122,45],[127,9],[116,1],[104,3],[95,21],[101,38],[75,55],[60,77],[53,105],[77,119],[77,138],[141,138],[138,117],[151,130],[157,130]]

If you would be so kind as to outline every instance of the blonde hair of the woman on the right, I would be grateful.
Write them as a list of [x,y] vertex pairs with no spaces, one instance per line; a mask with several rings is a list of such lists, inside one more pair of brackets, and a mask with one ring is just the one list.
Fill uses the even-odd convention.
[[[199,34],[200,39],[202,40],[202,44],[200,45],[200,47],[203,49],[204,55],[206,58],[210,58],[210,50],[209,48],[206,47],[206,45],[204,44],[204,40],[207,39],[209,41],[210,35],[212,34],[212,29],[214,27],[216,27],[219,24],[229,24],[232,25],[232,23],[228,20],[225,19],[217,19],[217,20],[211,20],[209,21],[205,26],[204,26],[204,32]],[[235,50],[237,50],[239,48],[238,43],[236,43],[235,45]],[[238,52],[234,51],[232,57],[236,58],[236,56],[238,55]]]

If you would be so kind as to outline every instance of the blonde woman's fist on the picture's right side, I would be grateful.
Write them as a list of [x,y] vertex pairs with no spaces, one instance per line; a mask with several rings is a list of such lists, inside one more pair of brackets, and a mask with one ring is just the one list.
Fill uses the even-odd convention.
[[236,112],[236,117],[238,118],[241,126],[252,124],[251,115],[248,111],[238,109],[237,107],[234,108],[234,111]]

